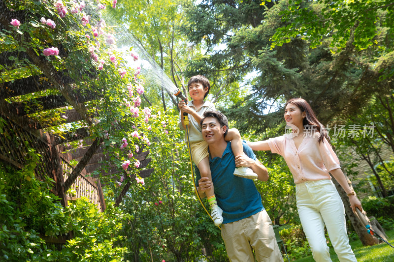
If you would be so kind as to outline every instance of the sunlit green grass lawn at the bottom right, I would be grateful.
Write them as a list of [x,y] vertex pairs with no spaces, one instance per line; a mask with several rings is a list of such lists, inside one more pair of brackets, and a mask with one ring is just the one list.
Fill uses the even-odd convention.
[[[394,246],[394,230],[386,231],[388,241]],[[374,246],[363,246],[360,240],[350,242],[358,262],[394,262],[394,248],[386,243]],[[329,249],[332,262],[339,262],[334,249]],[[284,257],[286,261],[286,257]],[[295,260],[295,262],[314,262],[312,256]]]

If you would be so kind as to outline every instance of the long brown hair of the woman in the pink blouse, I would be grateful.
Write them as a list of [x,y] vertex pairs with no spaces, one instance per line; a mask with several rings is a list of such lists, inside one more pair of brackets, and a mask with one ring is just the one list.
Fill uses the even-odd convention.
[[330,138],[328,136],[327,129],[322,125],[321,122],[317,119],[315,112],[313,112],[311,106],[302,98],[292,98],[288,100],[285,104],[285,108],[288,104],[293,104],[298,107],[301,112],[305,112],[306,116],[303,119],[303,125],[305,129],[316,130],[320,133],[319,143],[323,141],[324,138],[327,139],[328,143],[330,143]]

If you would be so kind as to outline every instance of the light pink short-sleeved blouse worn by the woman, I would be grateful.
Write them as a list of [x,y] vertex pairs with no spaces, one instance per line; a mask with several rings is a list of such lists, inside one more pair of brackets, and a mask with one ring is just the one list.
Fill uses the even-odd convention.
[[308,180],[330,179],[328,172],[340,168],[339,160],[326,138],[318,142],[318,132],[304,135],[304,139],[296,149],[293,138],[283,135],[270,138],[268,145],[272,153],[283,156],[296,184]]

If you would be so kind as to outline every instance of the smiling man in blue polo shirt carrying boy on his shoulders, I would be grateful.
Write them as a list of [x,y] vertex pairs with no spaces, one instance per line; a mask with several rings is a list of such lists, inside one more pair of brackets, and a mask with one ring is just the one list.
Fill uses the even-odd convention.
[[[208,143],[216,200],[223,209],[222,238],[230,261],[283,262],[271,220],[255,184],[233,175],[235,167],[250,167],[259,180],[267,181],[266,168],[246,143],[243,143],[245,155],[234,157],[231,142],[224,139],[229,129],[226,116],[218,111],[207,111],[203,116],[201,133]],[[206,177],[200,178],[198,169],[196,175],[198,193],[205,197],[204,191],[212,184]]]

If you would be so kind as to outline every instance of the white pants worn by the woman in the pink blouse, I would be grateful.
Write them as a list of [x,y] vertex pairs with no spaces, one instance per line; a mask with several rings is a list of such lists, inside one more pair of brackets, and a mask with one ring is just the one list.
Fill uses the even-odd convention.
[[345,208],[330,179],[296,184],[298,215],[317,262],[330,262],[329,239],[340,262],[357,262],[346,232]]

